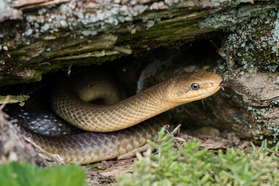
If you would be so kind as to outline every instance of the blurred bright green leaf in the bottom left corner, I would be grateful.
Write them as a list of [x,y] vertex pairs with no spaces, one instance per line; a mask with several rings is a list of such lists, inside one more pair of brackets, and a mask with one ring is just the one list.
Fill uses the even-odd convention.
[[42,169],[31,163],[11,162],[0,166],[0,186],[82,186],[85,177],[78,165]]

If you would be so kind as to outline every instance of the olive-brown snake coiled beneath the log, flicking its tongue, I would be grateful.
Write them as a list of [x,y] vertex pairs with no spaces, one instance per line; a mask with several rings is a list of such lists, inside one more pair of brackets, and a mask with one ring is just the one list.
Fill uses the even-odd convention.
[[[114,103],[119,97],[117,87],[104,76],[99,78],[100,83],[93,77],[69,77],[58,83],[51,96],[53,111],[82,133],[46,136],[19,125],[20,132],[46,152],[60,155],[65,163],[110,160],[143,146],[166,124],[165,111],[209,97],[228,84],[216,73],[190,72]],[[86,92],[95,93],[88,96]],[[89,102],[92,99],[107,101],[100,105]]]

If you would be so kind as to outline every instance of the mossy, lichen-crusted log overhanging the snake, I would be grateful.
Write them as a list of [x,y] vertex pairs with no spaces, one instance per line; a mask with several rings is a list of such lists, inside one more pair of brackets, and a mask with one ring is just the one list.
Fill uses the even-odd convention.
[[[0,1],[0,86],[71,65],[178,46],[274,9],[276,1]],[[117,47],[123,50],[117,50]],[[125,52],[125,51],[131,52]],[[123,52],[124,51],[124,52]]]

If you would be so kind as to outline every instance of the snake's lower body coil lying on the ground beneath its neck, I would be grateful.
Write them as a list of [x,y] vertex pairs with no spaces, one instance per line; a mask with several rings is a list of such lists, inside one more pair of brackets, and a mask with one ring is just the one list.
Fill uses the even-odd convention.
[[60,155],[66,163],[85,164],[110,160],[144,145],[160,127],[167,124],[163,118],[153,117],[148,122],[107,133],[45,136],[22,126],[19,129],[48,153]]

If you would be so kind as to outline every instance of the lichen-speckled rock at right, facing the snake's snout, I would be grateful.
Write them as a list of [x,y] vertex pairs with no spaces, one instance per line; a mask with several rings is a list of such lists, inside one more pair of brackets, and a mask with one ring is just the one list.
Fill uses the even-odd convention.
[[231,99],[241,100],[241,106],[251,113],[248,115],[249,125],[245,126],[254,131],[254,138],[272,135],[274,142],[278,140],[279,124],[255,121],[279,121],[278,18],[275,7],[228,27],[231,33],[224,38],[219,49],[219,54],[227,61],[224,79],[235,81],[233,91],[236,95],[232,94]]

